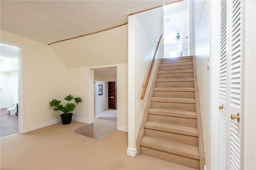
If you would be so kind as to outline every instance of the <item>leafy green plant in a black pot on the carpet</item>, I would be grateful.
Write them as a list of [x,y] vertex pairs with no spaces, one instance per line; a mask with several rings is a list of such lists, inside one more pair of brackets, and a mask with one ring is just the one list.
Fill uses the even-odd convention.
[[[61,101],[56,99],[53,99],[49,104],[50,104],[50,107],[54,107],[53,110],[55,112],[57,111],[62,112],[62,114],[60,114],[61,122],[63,125],[68,125],[71,123],[71,120],[72,120],[72,116],[73,116],[72,112],[75,110],[76,105],[82,102],[82,99],[79,97],[74,98],[74,96],[71,94],[66,96],[66,98],[64,99],[68,101],[68,103],[65,106],[61,104]],[[75,103],[71,103],[72,100],[74,100]]]

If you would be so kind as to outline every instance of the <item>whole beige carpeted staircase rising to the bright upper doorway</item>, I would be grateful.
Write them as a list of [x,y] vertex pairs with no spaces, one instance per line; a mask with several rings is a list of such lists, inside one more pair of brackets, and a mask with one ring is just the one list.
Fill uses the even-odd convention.
[[138,152],[200,169],[204,154],[200,154],[203,141],[193,57],[159,60],[137,139]]

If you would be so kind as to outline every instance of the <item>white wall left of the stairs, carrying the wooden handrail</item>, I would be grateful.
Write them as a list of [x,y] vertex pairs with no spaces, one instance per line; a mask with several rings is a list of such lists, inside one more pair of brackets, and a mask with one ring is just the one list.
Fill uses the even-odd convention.
[[[129,154],[129,150],[136,151],[136,139],[148,98],[148,89],[151,88],[153,76],[148,83],[144,100],[140,100],[142,85],[144,84],[154,56],[156,42],[161,34],[163,34],[162,8],[129,16],[129,149],[127,150],[127,154]],[[152,75],[154,75],[156,69],[157,59],[163,57],[162,44],[159,48],[159,54],[156,57]]]

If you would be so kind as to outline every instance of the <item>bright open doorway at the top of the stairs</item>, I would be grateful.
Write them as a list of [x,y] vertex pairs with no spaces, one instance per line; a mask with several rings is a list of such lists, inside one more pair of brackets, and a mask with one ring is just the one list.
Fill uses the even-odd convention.
[[164,58],[189,55],[189,1],[164,6]]

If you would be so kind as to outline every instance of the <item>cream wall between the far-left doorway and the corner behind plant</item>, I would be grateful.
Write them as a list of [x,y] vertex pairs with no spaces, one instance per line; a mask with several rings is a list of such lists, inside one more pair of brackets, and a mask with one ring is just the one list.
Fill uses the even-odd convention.
[[24,129],[59,118],[49,102],[68,93],[67,66],[47,44],[2,30],[1,40],[23,47]]

